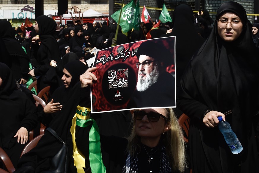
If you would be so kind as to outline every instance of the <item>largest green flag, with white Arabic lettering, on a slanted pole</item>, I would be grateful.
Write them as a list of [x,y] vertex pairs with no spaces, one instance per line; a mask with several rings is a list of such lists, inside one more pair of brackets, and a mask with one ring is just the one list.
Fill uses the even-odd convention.
[[130,3],[128,3],[127,5],[125,5],[125,7],[122,8],[121,16],[120,10],[118,10],[115,13],[113,13],[111,17],[118,23],[120,16],[120,26],[122,31],[125,33],[134,27],[135,11],[135,2],[134,0],[131,0]]

